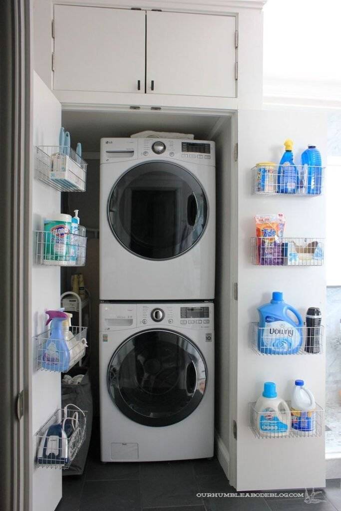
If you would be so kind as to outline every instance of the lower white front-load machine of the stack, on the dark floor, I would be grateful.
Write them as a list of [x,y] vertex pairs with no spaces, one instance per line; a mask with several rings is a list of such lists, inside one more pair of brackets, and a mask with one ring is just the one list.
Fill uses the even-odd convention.
[[213,456],[213,304],[100,304],[102,461]]

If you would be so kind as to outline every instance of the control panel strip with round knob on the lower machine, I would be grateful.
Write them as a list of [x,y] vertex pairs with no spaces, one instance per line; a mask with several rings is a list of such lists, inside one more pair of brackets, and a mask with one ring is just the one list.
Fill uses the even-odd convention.
[[100,331],[134,328],[214,328],[214,305],[202,303],[101,304]]

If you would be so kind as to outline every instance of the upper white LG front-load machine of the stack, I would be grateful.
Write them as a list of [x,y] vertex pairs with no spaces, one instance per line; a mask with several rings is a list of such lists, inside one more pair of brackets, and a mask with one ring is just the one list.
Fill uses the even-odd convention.
[[213,299],[214,142],[102,138],[100,181],[100,299]]

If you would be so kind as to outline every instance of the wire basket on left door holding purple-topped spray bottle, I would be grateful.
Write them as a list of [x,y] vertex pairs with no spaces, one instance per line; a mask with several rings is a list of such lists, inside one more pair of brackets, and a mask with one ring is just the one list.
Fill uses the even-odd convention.
[[59,339],[51,338],[51,330],[35,336],[37,369],[66,373],[85,355],[86,327],[70,327],[70,339],[66,340],[68,350],[60,349]]

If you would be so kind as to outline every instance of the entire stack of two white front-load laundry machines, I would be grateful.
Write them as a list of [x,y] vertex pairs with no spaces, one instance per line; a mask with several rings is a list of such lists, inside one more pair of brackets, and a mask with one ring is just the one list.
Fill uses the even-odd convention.
[[213,142],[102,138],[102,461],[213,456]]

